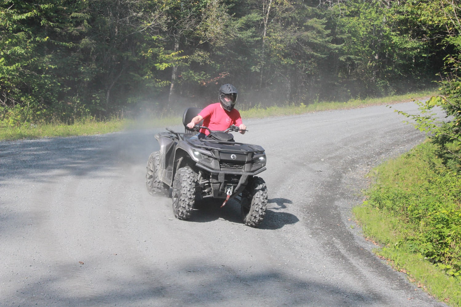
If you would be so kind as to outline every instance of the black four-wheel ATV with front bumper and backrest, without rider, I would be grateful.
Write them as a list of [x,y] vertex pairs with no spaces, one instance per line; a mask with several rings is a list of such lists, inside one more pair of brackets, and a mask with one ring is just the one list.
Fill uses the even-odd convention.
[[[154,151],[147,163],[149,193],[166,194],[171,187],[173,211],[180,220],[189,219],[194,205],[202,199],[223,199],[223,207],[235,198],[241,204],[245,225],[260,225],[266,215],[267,188],[255,175],[266,170],[264,148],[235,142],[230,132],[238,132],[236,126],[211,131],[199,124],[189,129],[187,124],[200,111],[185,110],[184,133],[166,128],[168,132],[155,134],[160,151]],[[204,139],[192,138],[201,128],[210,134]]]

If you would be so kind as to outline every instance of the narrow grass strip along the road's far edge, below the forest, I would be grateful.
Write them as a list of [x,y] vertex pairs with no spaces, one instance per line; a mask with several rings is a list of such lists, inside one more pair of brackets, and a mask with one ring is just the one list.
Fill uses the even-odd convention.
[[[313,104],[287,104],[284,106],[255,106],[251,109],[240,109],[242,118],[264,118],[269,116],[288,116],[315,111],[340,110],[366,107],[378,104],[395,104],[412,99],[422,99],[435,95],[435,91],[427,90],[418,93],[408,93],[385,98],[351,99],[347,102],[316,102]],[[144,115],[142,120],[127,118],[113,118],[107,121],[82,120],[68,125],[66,123],[23,124],[8,126],[0,122],[0,140],[37,139],[44,137],[67,137],[76,135],[92,135],[111,133],[122,130],[147,129],[154,127],[167,127],[181,124],[182,114],[169,116],[156,114]]]

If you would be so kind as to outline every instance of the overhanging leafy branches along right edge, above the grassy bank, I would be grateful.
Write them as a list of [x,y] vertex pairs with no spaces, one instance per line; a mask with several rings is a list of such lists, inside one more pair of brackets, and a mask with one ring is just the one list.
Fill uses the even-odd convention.
[[[438,146],[437,155],[451,170],[461,172],[461,77],[458,71],[461,68],[461,40],[460,19],[461,9],[450,1],[421,2],[418,7],[421,16],[419,22],[427,24],[431,29],[443,29],[445,35],[440,45],[452,50],[444,58],[444,71],[438,81],[441,94],[434,96],[425,103],[420,103],[420,114],[400,114],[412,118],[415,126],[422,131],[431,133],[431,141]],[[435,31],[435,30],[432,30]],[[432,113],[434,107],[441,107],[447,120],[437,119]]]

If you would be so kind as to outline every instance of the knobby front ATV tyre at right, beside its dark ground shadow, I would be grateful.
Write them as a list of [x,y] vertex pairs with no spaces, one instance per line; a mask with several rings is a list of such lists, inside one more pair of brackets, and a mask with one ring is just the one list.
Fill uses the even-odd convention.
[[259,226],[266,216],[267,187],[260,177],[253,177],[242,193],[242,219],[245,225]]

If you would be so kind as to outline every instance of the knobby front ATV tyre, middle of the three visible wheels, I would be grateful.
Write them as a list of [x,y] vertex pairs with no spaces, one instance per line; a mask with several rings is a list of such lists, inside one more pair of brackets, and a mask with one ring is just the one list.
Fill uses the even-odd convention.
[[177,219],[190,218],[195,201],[197,175],[189,166],[179,168],[173,181],[173,212]]

